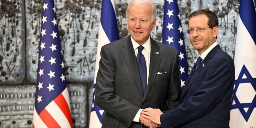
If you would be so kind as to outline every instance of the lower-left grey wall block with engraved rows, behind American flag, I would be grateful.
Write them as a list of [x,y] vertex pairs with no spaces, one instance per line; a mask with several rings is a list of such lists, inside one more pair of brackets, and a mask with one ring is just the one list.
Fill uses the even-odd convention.
[[[69,97],[74,128],[87,126],[87,88],[70,84]],[[0,86],[0,127],[31,128],[35,101],[35,85]]]

